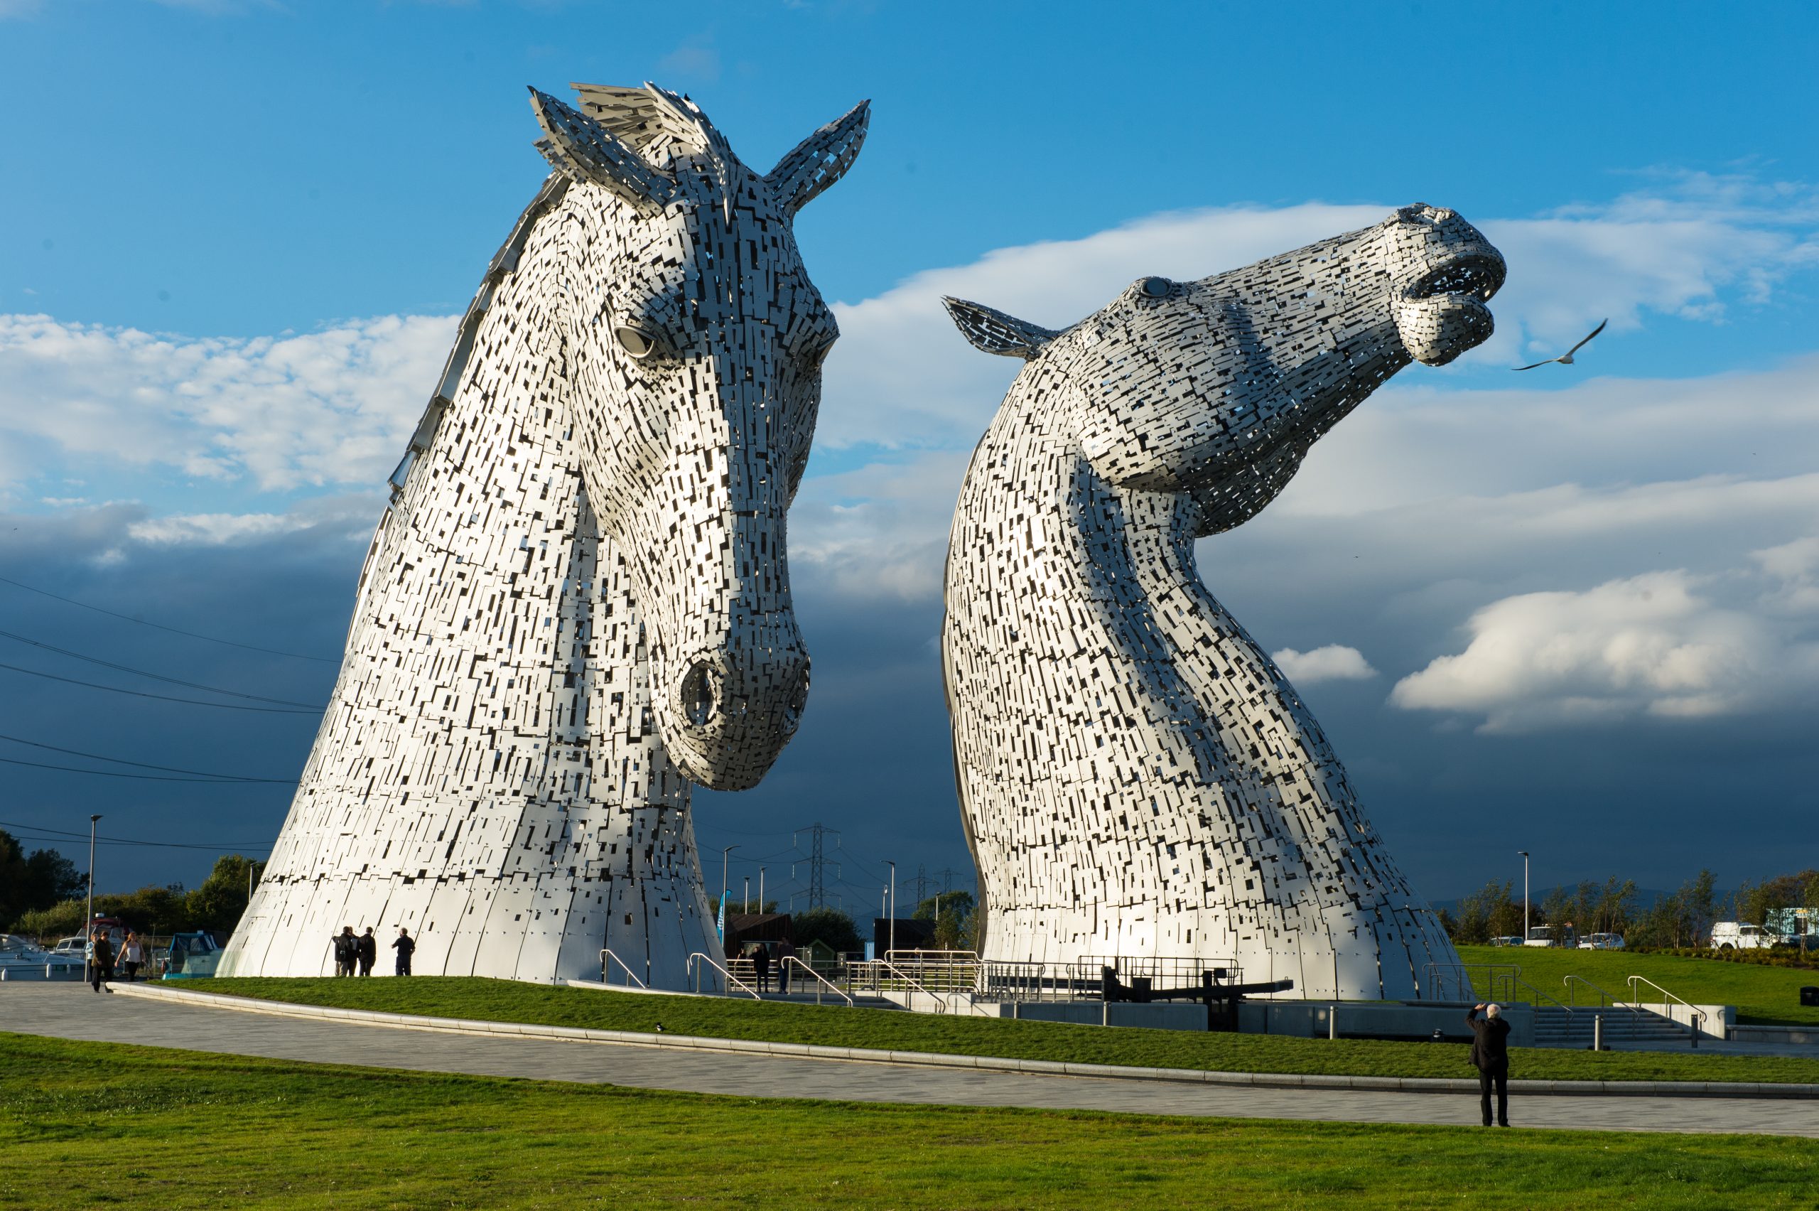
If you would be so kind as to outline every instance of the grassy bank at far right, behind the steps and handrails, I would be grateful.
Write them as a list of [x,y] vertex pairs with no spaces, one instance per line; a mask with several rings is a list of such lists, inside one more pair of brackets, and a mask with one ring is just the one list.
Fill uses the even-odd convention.
[[[1517,964],[1524,980],[1561,1000],[1566,1000],[1561,978],[1568,973],[1592,980],[1619,1000],[1630,995],[1624,978],[1639,975],[1695,1006],[1737,1006],[1739,1024],[1819,1026],[1819,1007],[1801,1006],[1801,986],[1819,984],[1819,971],[1673,955],[1555,951],[1539,946],[1461,946],[1459,956],[1468,964]],[[1581,996],[1583,993],[1584,989]]]

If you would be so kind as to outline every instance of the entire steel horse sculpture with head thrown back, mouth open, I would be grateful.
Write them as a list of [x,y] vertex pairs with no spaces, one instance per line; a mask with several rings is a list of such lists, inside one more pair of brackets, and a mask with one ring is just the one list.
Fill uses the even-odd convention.
[[1482,342],[1502,273],[1415,205],[1142,278],[1062,333],[948,300],[975,345],[1028,358],[960,489],[942,626],[988,956],[1237,962],[1370,998],[1455,962],[1193,540],[1262,509],[1390,375]]

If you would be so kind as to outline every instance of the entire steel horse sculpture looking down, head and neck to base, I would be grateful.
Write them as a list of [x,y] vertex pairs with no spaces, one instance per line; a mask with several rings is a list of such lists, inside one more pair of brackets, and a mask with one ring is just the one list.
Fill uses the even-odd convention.
[[[768,175],[662,89],[533,95],[555,165],[393,476],[329,711],[222,969],[682,987],[709,951],[689,784],[749,787],[808,653],[784,513],[837,329],[795,213],[864,105]],[[622,978],[622,976],[620,976]]]

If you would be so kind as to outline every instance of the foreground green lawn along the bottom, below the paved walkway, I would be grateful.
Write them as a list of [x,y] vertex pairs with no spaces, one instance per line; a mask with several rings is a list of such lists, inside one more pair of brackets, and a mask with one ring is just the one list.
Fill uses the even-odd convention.
[[[1461,1104],[1470,1120],[1475,1104]],[[786,1102],[0,1035],[0,1207],[1812,1207],[1819,1142]]]

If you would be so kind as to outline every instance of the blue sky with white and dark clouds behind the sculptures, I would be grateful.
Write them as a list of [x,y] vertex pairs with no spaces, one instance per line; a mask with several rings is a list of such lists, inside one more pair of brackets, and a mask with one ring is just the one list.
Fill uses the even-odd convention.
[[[1284,666],[1432,896],[1510,876],[1519,847],[1544,882],[1814,864],[1786,846],[1819,784],[1808,9],[675,11],[0,0],[0,576],[329,660],[7,584],[0,629],[320,702],[378,485],[544,173],[524,85],[688,91],[760,167],[871,98],[859,164],[799,224],[846,333],[791,520],[815,698],[762,787],[700,798],[704,851],[788,855],[824,820],[849,907],[884,858],[966,867],[939,560],[1015,365],[937,295],[1060,325],[1139,275],[1422,200],[1510,258],[1497,338],[1404,371],[1202,545],[1202,575],[1301,653]],[[1606,315],[1579,365],[1510,375]],[[40,744],[282,782],[311,733],[0,669],[0,735]],[[0,820],[36,827],[106,811],[118,836],[269,842],[287,802],[7,769]],[[207,851],[111,860],[104,882],[195,882]]]

